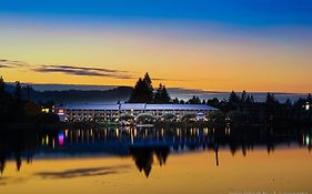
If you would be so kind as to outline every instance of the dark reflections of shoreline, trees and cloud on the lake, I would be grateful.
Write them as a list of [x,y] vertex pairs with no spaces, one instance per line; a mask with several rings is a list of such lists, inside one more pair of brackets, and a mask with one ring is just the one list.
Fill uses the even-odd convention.
[[[164,165],[170,154],[210,151],[215,153],[215,165],[220,165],[220,149],[230,149],[232,155],[242,155],[265,146],[268,153],[279,145],[299,145],[311,151],[311,129],[90,129],[60,131],[2,131],[0,135],[0,171],[3,174],[7,160],[14,160],[17,171],[22,163],[30,164],[34,155],[130,155],[138,170],[148,177],[155,161]],[[99,172],[79,170],[59,174],[41,174],[58,177],[115,173],[113,170]]]

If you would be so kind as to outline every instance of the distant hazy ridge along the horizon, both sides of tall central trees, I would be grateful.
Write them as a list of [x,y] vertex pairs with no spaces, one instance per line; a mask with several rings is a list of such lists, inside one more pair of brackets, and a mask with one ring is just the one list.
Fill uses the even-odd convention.
[[[22,95],[27,98],[26,84],[22,85]],[[30,90],[30,99],[32,101],[46,102],[52,100],[57,103],[117,103],[118,101],[124,102],[130,98],[132,92],[131,86],[115,86],[115,85],[71,85],[71,84],[29,84],[33,86]],[[48,85],[48,86],[47,86]],[[47,89],[47,90],[44,90]],[[13,93],[14,83],[7,84],[7,91]],[[168,88],[168,92],[172,99],[179,98],[182,100],[189,100],[193,95],[200,99],[213,99],[219,100],[229,99],[230,92],[222,91],[204,91],[195,89],[181,89],[181,88]],[[249,92],[253,94],[254,100],[264,102],[266,92]],[[299,98],[306,98],[305,93],[284,93],[272,92],[280,102],[285,102],[286,99],[296,101]],[[238,92],[241,95],[241,92]]]

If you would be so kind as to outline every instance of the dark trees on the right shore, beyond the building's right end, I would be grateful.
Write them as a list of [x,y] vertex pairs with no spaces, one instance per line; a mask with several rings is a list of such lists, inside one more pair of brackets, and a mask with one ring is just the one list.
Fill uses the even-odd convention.
[[236,124],[306,124],[312,123],[312,96],[300,98],[292,102],[280,102],[274,94],[268,93],[264,102],[258,102],[245,91],[238,95],[231,92],[229,100],[210,100],[209,105],[220,109],[231,122]]

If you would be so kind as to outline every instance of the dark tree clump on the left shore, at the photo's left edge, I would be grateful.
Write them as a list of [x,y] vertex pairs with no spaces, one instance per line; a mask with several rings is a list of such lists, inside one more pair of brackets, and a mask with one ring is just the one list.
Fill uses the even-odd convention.
[[59,121],[58,115],[43,113],[41,104],[30,101],[29,98],[22,98],[21,90],[21,84],[17,81],[13,93],[7,92],[4,80],[2,76],[0,78],[0,123],[54,123]]

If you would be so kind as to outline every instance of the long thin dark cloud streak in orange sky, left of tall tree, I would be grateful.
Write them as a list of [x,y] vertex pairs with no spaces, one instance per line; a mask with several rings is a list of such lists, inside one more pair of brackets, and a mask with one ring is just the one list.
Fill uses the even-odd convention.
[[72,67],[72,65],[41,65],[33,69],[36,72],[47,72],[47,73],[66,73],[72,75],[83,75],[83,76],[107,76],[113,79],[133,79],[133,75],[128,71],[111,70],[104,68],[90,68],[90,67]]

